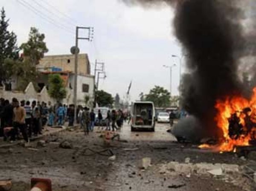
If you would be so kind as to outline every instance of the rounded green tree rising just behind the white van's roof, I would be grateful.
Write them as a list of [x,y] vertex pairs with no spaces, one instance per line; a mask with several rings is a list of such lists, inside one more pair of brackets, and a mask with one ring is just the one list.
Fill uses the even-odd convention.
[[168,107],[170,106],[170,93],[163,87],[155,86],[145,96],[145,101],[153,101],[156,107]]

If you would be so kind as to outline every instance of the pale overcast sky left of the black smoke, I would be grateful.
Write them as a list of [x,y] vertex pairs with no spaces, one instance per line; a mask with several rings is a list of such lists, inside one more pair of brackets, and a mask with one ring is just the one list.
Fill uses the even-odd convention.
[[0,5],[18,45],[34,26],[46,36],[47,55],[69,54],[76,26],[94,27],[93,41],[80,40],[79,48],[88,54],[92,74],[96,59],[105,63],[107,77],[100,79],[99,89],[124,98],[132,81],[131,101],[155,85],[170,90],[170,70],[163,65],[176,64],[172,95],[178,95],[180,61],[172,55],[180,56],[181,48],[173,34],[172,8],[145,9],[121,0],[0,0]]

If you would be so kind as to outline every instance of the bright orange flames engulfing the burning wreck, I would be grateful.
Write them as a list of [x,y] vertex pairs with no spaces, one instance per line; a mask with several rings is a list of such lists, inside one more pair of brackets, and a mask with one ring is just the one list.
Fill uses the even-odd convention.
[[241,96],[230,96],[224,101],[217,100],[215,108],[218,110],[217,116],[215,116],[215,121],[217,127],[223,131],[223,142],[220,145],[200,145],[199,148],[210,148],[218,151],[234,151],[236,152],[236,146],[247,146],[249,141],[255,136],[256,127],[254,126],[249,133],[245,135],[240,135],[237,139],[232,139],[229,136],[229,118],[233,113],[236,113],[240,119],[240,123],[243,126],[243,130],[246,131],[247,127],[245,125],[245,113],[242,112],[244,108],[250,107],[250,120],[256,123],[256,87],[253,89],[253,96],[250,100],[243,98]]

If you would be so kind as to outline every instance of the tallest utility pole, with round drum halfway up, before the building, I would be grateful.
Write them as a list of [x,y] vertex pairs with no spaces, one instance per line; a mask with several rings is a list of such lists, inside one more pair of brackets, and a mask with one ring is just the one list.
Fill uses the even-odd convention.
[[[88,32],[87,37],[79,37],[79,29]],[[83,27],[83,26],[76,26],[76,45],[71,47],[70,52],[75,55],[75,80],[74,80],[74,105],[75,105],[75,118],[74,121],[76,122],[76,109],[77,109],[77,73],[78,73],[78,54],[79,54],[79,47],[78,41],[79,40],[93,40],[93,27]]]

